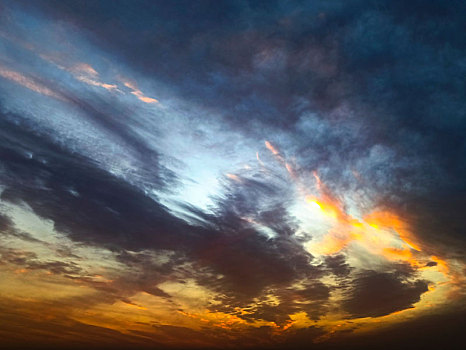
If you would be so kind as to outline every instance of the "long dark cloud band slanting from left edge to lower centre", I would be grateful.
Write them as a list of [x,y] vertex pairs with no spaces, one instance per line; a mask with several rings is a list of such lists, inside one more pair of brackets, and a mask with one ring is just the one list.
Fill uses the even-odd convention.
[[[278,195],[273,185],[245,180],[244,186],[233,186],[224,199],[218,200],[215,217],[204,215],[207,223],[191,226],[88,159],[70,154],[26,128],[2,123],[0,147],[6,170],[2,180],[7,186],[2,199],[26,202],[40,217],[52,220],[57,231],[75,241],[120,252],[118,259],[133,272],[111,286],[102,285],[105,290],[123,295],[146,291],[168,297],[155,286],[177,264],[191,261],[207,269],[206,276],[198,276],[199,283],[233,297],[236,305],[247,305],[268,287],[283,288],[322,275],[320,268],[310,265],[312,256],[290,236],[293,227],[287,222],[292,219],[283,209],[271,209],[275,218],[270,228],[278,234],[273,239],[242,218],[252,215],[268,225],[270,210],[257,210],[260,200]],[[32,158],[27,150],[34,150]],[[145,249],[165,249],[177,255],[169,263],[156,266],[143,253],[125,253]],[[222,277],[209,277],[216,274]]]

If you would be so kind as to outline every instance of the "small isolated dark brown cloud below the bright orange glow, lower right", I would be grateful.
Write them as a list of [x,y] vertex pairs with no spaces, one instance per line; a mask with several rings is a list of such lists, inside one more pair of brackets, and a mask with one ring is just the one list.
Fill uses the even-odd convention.
[[408,281],[396,273],[365,271],[352,283],[343,307],[350,317],[379,317],[413,307],[428,290],[425,281]]

